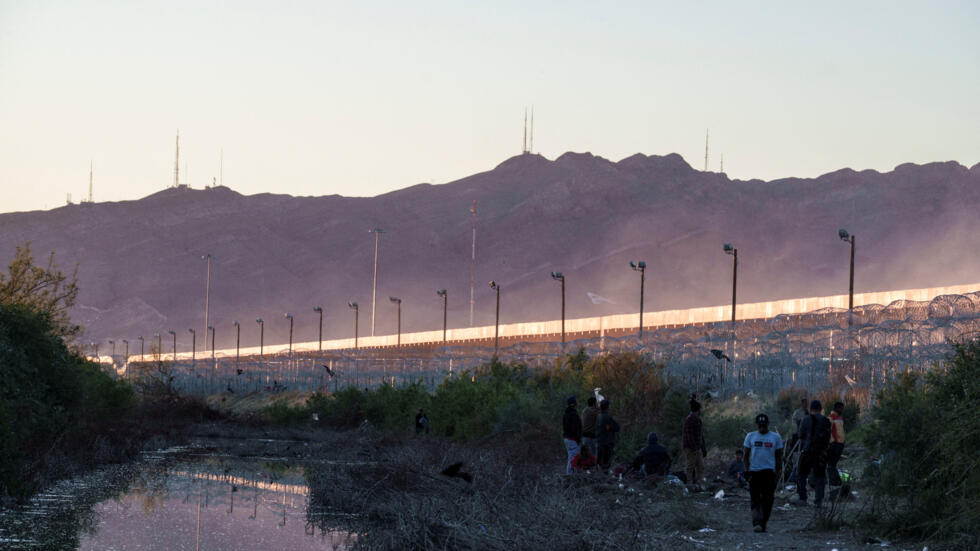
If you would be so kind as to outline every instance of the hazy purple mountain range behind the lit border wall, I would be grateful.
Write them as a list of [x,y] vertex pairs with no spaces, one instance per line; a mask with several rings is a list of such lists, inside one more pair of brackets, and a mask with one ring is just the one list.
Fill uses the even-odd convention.
[[[731,180],[692,169],[679,155],[612,162],[589,153],[554,161],[507,159],[444,185],[420,184],[372,198],[243,196],[228,188],[167,189],[138,201],[68,205],[0,215],[0,262],[33,243],[64,267],[79,263],[75,319],[86,340],[148,340],[189,327],[204,333],[205,262],[215,256],[211,319],[219,346],[371,333],[374,235],[382,237],[377,334],[441,327],[436,289],[449,290],[449,324],[469,322],[470,207],[477,200],[475,323],[493,323],[490,279],[502,285],[501,322],[555,319],[567,279],[567,315],[635,311],[645,260],[646,309],[725,304],[739,249],[739,301],[845,293],[848,247],[857,235],[856,291],[980,279],[980,165],[903,164],[893,171],[842,169],[814,179]],[[591,295],[590,295],[591,293]],[[595,300],[598,296],[603,300]],[[590,298],[591,297],[591,298]],[[200,345],[199,345],[200,347]]]

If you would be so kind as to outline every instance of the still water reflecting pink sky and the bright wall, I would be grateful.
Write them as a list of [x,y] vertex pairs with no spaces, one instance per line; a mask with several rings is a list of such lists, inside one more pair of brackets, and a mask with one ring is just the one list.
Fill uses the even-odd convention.
[[0,549],[323,550],[354,536],[308,514],[301,463],[203,447],[144,454],[0,511]]

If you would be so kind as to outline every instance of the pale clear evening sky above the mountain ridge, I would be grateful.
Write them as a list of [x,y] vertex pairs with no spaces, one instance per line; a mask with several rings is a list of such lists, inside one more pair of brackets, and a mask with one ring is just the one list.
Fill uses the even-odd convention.
[[980,3],[0,0],[0,212],[373,196],[534,151],[732,178],[980,162]]

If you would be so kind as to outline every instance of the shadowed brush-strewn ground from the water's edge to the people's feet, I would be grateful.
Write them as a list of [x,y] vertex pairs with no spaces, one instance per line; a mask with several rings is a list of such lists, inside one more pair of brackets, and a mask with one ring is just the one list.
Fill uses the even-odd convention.
[[[337,433],[202,425],[197,432],[221,436],[220,446],[234,454],[294,456],[308,473],[310,521],[364,534],[357,544],[363,549],[943,548],[869,543],[851,527],[828,529],[814,507],[790,504],[795,492],[785,489],[777,492],[768,531],[755,533],[748,491],[712,472],[720,457],[708,462],[717,481],[692,493],[599,473],[568,477],[558,455],[553,465],[517,464],[499,442],[461,445],[369,427]],[[268,440],[256,444],[256,437]],[[456,462],[472,482],[440,475]],[[724,496],[716,498],[719,490]],[[860,483],[853,490],[857,497],[841,502],[839,518],[853,519],[864,507]]]

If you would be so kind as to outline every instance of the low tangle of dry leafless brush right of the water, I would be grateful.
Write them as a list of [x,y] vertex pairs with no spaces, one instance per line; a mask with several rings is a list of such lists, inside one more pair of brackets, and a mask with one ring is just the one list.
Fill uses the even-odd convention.
[[[659,549],[705,525],[683,489],[566,477],[495,448],[381,440],[375,457],[308,474],[311,516],[362,534],[358,548]],[[458,461],[472,483],[438,474]]]

